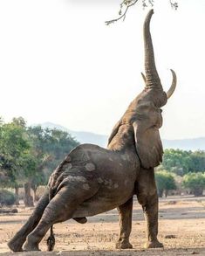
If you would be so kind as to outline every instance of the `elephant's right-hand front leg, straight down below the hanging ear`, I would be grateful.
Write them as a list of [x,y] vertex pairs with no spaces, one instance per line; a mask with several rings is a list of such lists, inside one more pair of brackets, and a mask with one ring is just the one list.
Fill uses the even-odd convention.
[[135,192],[144,211],[147,223],[146,248],[163,247],[158,241],[158,195],[154,180],[154,169],[140,169]]

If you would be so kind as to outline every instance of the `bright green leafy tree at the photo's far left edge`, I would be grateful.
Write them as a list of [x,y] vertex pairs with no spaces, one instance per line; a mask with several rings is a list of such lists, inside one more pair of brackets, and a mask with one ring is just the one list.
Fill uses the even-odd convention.
[[[0,165],[6,176],[2,186],[18,188],[30,176],[31,144],[25,128],[23,118],[16,118],[10,123],[3,123],[0,128]],[[28,168],[30,165],[30,168]],[[18,203],[18,202],[17,202]]]

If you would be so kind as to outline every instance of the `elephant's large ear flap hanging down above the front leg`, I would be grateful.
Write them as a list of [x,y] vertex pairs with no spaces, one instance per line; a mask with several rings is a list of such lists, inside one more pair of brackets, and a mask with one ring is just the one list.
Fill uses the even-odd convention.
[[144,129],[142,124],[133,122],[135,147],[140,157],[141,166],[149,169],[162,161],[163,149],[159,129]]

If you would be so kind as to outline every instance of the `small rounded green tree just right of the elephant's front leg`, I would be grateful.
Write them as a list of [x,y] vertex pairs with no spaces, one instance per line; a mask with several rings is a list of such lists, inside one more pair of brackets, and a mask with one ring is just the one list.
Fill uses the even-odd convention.
[[168,190],[176,190],[174,176],[167,172],[167,170],[156,171],[155,180],[159,197],[162,197],[163,194],[167,197]]

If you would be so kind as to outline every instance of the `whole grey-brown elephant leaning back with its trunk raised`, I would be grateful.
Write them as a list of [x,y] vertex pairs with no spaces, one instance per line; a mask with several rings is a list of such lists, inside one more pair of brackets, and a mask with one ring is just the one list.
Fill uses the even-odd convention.
[[[129,235],[132,225],[133,195],[142,205],[147,221],[147,247],[161,247],[157,239],[158,197],[154,167],[161,163],[162,146],[159,128],[161,108],[175,87],[166,94],[154,64],[154,51],[149,32],[153,10],[144,24],[145,82],[120,121],[113,128],[108,149],[83,144],[59,164],[49,181],[49,188],[38,202],[29,220],[10,240],[14,252],[38,250],[38,244],[49,228],[74,218],[85,223],[88,216],[117,207],[120,213],[120,239],[117,248],[132,248]],[[49,199],[50,195],[50,199]]]

